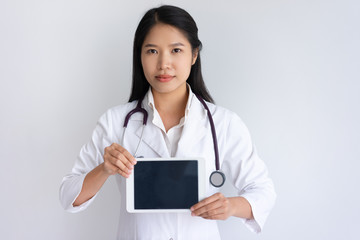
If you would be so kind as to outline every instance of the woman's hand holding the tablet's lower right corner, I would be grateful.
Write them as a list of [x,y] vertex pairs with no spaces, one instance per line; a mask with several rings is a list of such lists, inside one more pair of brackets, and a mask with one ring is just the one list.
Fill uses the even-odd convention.
[[233,206],[229,198],[222,193],[205,198],[190,208],[192,216],[205,219],[225,220],[233,215]]

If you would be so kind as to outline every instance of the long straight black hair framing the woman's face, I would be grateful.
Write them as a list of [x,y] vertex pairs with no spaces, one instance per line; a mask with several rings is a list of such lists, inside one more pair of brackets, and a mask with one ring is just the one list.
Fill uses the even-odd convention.
[[198,38],[196,23],[188,12],[179,7],[169,5],[163,5],[147,11],[136,29],[133,49],[132,89],[129,102],[142,98],[149,90],[149,83],[145,78],[141,64],[141,49],[145,37],[157,23],[165,23],[178,28],[185,34],[193,52],[198,51],[196,62],[191,67],[187,83],[195,94],[200,95],[208,102],[214,103],[201,74],[200,50],[202,44]]

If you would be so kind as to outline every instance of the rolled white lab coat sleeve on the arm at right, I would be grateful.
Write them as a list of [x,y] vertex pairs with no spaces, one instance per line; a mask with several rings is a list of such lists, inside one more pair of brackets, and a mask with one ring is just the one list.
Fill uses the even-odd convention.
[[245,225],[259,233],[275,203],[273,182],[256,152],[247,127],[236,114],[230,120],[225,139],[223,166],[230,172],[239,196],[251,205],[254,219],[244,219]]

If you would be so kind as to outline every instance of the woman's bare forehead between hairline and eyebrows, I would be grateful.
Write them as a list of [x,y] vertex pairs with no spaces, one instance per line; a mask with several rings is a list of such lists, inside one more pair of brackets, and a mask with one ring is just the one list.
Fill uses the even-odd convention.
[[186,46],[190,46],[188,39],[181,30],[169,24],[157,23],[150,29],[150,31],[146,35],[143,45],[169,45],[178,42]]

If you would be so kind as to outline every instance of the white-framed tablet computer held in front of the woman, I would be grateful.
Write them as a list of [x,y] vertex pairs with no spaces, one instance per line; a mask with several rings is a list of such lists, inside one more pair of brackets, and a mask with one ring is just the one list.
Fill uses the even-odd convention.
[[126,179],[126,210],[187,212],[205,197],[202,158],[137,158]]

